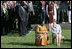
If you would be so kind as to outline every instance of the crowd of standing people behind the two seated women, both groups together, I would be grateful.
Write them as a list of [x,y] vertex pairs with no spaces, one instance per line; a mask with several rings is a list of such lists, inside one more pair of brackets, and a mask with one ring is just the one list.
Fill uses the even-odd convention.
[[[12,29],[19,28],[20,32],[22,29],[26,29],[27,26],[30,26],[30,23],[27,22],[29,20],[28,17],[31,14],[35,14],[33,10],[33,1],[1,1],[1,28],[2,32],[8,33]],[[40,14],[40,20],[46,21],[48,20],[48,27],[49,30],[51,28],[51,23],[53,19],[56,19],[57,23],[60,23],[60,15],[62,10],[63,16],[62,19],[65,21],[65,11],[67,10],[68,15],[68,22],[71,23],[71,1],[64,1],[67,7],[65,7],[65,10],[63,9],[64,4],[62,4],[63,1],[39,1],[39,14]],[[31,3],[29,5],[29,3]],[[61,6],[63,5],[63,6]],[[30,9],[28,10],[28,7],[30,6]],[[22,9],[22,10],[21,10]],[[25,11],[24,11],[25,10]],[[33,10],[32,12],[29,12]],[[30,14],[31,13],[31,14]],[[25,15],[26,14],[26,15]],[[32,16],[32,15],[31,15]],[[18,19],[17,19],[18,18]],[[23,22],[23,18],[25,18],[25,22]],[[22,23],[21,23],[22,22]],[[26,24],[27,22],[27,24]],[[19,26],[17,26],[17,24]],[[26,25],[25,25],[26,24]],[[24,28],[22,25],[24,25]],[[23,31],[23,30],[22,30]],[[26,30],[24,30],[26,32]],[[21,33],[23,34],[23,33]]]

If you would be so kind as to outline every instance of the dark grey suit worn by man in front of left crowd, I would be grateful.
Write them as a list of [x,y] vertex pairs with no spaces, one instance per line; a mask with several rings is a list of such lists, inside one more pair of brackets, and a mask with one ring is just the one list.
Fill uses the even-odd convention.
[[20,32],[20,36],[22,36],[23,34],[26,34],[27,32],[27,12],[25,11],[25,9],[21,6],[20,3],[18,3],[17,5],[17,12],[18,12],[18,27],[19,27],[19,32]]

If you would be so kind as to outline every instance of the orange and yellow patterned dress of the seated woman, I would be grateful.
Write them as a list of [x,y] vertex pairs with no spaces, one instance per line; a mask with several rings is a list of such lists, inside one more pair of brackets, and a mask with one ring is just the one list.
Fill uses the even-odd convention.
[[47,33],[46,26],[38,25],[36,29],[36,33],[35,33],[35,44],[36,45],[47,45],[47,34],[42,34],[42,32]]

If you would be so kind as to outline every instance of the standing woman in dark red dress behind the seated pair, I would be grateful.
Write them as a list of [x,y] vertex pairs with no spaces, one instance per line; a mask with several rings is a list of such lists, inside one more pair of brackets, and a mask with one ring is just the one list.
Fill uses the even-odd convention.
[[49,4],[46,6],[46,13],[48,16],[48,26],[49,26],[49,31],[51,31],[51,25],[52,25],[52,20],[53,20],[53,4],[52,1],[49,1]]

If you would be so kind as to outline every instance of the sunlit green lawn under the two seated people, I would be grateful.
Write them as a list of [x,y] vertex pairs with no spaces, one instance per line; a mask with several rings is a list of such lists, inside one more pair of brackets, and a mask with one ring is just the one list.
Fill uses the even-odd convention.
[[65,43],[61,41],[61,46],[57,47],[56,43],[51,44],[52,33],[49,32],[50,43],[46,46],[35,45],[35,31],[32,29],[30,33],[20,37],[16,31],[8,35],[1,36],[1,48],[71,48],[71,29],[62,29],[62,35],[65,36]]

